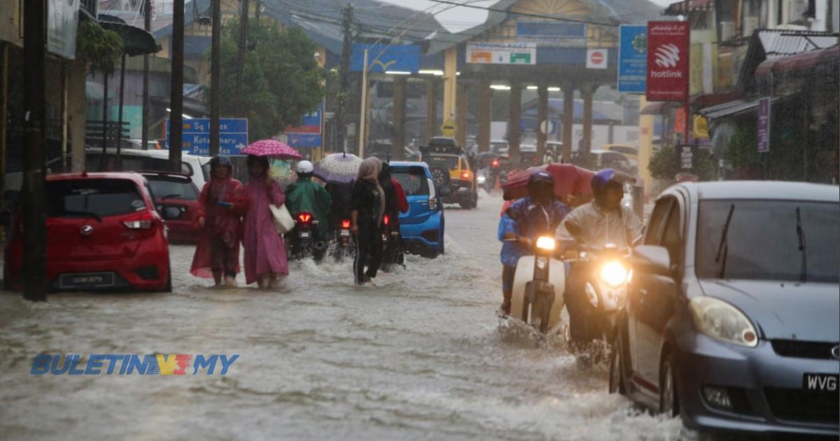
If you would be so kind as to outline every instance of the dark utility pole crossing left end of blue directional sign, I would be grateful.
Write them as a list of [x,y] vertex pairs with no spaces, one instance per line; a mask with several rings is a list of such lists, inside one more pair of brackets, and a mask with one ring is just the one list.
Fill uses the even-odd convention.
[[180,173],[181,147],[184,144],[184,0],[175,0],[172,8],[169,163],[172,171]]

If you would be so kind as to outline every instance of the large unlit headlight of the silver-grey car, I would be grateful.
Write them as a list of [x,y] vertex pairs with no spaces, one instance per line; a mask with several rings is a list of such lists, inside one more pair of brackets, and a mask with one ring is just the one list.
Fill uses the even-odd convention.
[[754,348],[759,344],[753,323],[743,312],[714,297],[695,297],[689,303],[698,331],[712,339]]

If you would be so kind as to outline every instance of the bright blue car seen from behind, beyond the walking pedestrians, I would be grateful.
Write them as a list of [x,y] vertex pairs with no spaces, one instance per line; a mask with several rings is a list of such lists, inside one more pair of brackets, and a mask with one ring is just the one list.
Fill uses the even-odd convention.
[[415,255],[444,254],[444,204],[449,187],[435,188],[432,172],[424,162],[391,161],[391,177],[402,184],[408,211],[400,214],[400,232],[406,250]]

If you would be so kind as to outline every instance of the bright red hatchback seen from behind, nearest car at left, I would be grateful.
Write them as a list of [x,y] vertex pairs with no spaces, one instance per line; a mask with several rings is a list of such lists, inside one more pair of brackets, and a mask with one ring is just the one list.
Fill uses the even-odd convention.
[[[169,244],[149,186],[137,173],[47,177],[47,281],[54,291],[171,291]],[[24,222],[13,223],[5,281],[21,288]]]

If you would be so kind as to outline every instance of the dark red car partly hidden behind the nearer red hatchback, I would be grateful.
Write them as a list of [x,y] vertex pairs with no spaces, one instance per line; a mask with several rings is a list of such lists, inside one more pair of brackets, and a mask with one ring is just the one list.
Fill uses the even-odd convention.
[[169,241],[195,244],[200,228],[199,190],[190,176],[171,171],[141,171],[149,181],[158,212],[166,219]]

